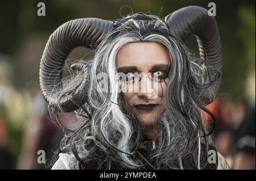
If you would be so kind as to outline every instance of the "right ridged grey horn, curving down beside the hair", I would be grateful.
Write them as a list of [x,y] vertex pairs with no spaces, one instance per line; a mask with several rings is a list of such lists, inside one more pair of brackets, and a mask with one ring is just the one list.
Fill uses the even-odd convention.
[[[168,29],[177,39],[185,42],[191,35],[195,35],[199,45],[200,57],[207,61],[210,78],[221,73],[221,43],[218,27],[214,16],[208,15],[208,10],[200,6],[187,6],[165,17]],[[209,89],[217,95],[221,84],[221,77]],[[207,89],[205,90],[207,91]],[[206,92],[207,93],[207,92]],[[203,98],[205,104],[213,99]]]

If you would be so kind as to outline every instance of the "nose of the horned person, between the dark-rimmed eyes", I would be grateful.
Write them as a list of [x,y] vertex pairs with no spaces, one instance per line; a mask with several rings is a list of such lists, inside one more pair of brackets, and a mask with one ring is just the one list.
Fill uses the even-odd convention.
[[143,73],[141,81],[134,86],[138,98],[156,99],[158,97],[158,85],[152,81],[151,73]]

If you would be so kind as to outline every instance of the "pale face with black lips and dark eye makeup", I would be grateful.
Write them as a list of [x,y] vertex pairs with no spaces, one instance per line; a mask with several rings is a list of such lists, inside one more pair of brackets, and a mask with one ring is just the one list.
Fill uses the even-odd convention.
[[[152,127],[164,111],[164,98],[170,82],[167,50],[155,41],[128,43],[118,51],[116,64],[118,72],[126,74],[127,79],[120,87],[132,112],[146,128]],[[138,82],[135,83],[133,78]]]

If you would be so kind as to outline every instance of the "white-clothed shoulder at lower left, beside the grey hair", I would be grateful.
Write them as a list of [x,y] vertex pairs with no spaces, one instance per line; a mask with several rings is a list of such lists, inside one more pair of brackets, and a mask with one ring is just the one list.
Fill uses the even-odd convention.
[[77,170],[78,162],[75,158],[75,155],[67,154],[67,153],[60,153],[59,159],[55,162],[52,166],[52,170]]

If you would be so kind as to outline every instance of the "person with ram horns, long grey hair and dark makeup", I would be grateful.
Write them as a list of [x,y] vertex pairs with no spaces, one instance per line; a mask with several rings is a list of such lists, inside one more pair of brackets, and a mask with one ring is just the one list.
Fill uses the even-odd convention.
[[[196,35],[200,56],[184,42]],[[71,65],[73,48],[95,50]],[[40,87],[57,123],[75,111],[52,169],[228,169],[204,128],[202,111],[221,83],[221,45],[214,16],[199,6],[114,21],[75,19],[49,37]],[[212,116],[213,117],[213,116]],[[214,119],[214,117],[213,117]],[[54,162],[53,161],[53,162]]]

